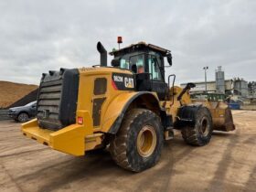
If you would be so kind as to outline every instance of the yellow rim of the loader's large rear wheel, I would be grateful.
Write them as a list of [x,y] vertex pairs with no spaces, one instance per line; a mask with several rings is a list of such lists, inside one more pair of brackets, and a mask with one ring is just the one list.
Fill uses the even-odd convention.
[[154,127],[145,125],[137,137],[137,151],[143,157],[154,153],[156,146],[156,133]]

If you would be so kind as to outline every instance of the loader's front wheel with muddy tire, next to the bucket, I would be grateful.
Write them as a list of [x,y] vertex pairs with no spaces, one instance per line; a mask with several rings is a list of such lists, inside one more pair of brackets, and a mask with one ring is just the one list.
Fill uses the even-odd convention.
[[203,146],[209,143],[213,131],[212,117],[208,108],[200,107],[194,127],[184,127],[182,137],[187,144]]

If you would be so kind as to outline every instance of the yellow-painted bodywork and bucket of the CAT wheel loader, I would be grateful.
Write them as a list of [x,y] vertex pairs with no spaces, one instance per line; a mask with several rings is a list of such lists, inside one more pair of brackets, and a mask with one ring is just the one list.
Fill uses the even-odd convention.
[[[136,102],[144,102],[147,109],[159,113],[159,109],[165,109],[167,115],[173,117],[176,122],[176,114],[181,104],[191,103],[203,104],[207,106],[212,114],[214,128],[220,131],[231,131],[231,126],[225,126],[227,122],[228,105],[223,101],[192,101],[188,93],[185,93],[181,101],[177,101],[177,95],[182,91],[179,87],[170,89],[171,95],[169,101],[159,101],[155,92],[138,91],[119,91],[112,86],[112,72],[115,73],[132,73],[128,70],[114,68],[83,68],[80,69],[80,87],[78,94],[78,104],[76,119],[77,123],[71,124],[59,131],[42,129],[37,124],[37,119],[22,124],[22,132],[27,137],[37,140],[40,144],[46,144],[51,148],[70,155],[84,155],[85,151],[101,147],[104,133],[109,133],[114,129],[113,124],[118,120],[123,112],[128,108],[133,108]],[[94,81],[97,78],[107,80],[107,88],[104,94],[94,95]],[[86,86],[84,86],[86,84]],[[174,89],[174,91],[172,91]],[[138,96],[139,95],[139,96]],[[174,98],[173,98],[174,97]],[[93,126],[92,100],[105,98],[101,106],[101,123]],[[135,99],[133,99],[135,98]],[[126,109],[125,109],[126,108]],[[83,122],[78,123],[78,118],[82,117]],[[228,117],[229,119],[230,117]],[[232,124],[232,122],[231,122]],[[117,124],[117,126],[120,123]],[[116,127],[118,129],[118,127]]]

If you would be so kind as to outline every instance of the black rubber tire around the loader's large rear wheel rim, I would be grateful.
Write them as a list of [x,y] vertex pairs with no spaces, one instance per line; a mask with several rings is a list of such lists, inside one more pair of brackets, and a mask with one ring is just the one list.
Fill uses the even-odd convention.
[[[143,156],[137,149],[137,138],[144,127],[154,130],[156,143],[152,154]],[[141,172],[156,164],[159,160],[164,143],[164,133],[160,118],[145,109],[132,109],[124,116],[123,123],[118,133],[112,138],[110,152],[117,165],[124,169]]]

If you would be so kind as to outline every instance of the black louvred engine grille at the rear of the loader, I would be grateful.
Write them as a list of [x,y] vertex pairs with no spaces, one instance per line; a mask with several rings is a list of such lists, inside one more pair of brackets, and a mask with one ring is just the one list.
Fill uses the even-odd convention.
[[37,121],[41,128],[57,131],[75,123],[78,86],[78,69],[43,74],[37,96]]

